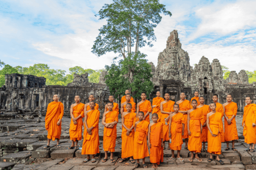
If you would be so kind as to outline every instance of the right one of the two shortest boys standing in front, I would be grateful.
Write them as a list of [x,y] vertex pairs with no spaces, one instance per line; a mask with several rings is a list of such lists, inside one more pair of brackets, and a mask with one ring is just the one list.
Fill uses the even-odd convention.
[[163,123],[157,122],[158,115],[152,114],[153,123],[148,127],[148,146],[150,148],[150,163],[152,168],[158,168],[160,162],[164,161]]

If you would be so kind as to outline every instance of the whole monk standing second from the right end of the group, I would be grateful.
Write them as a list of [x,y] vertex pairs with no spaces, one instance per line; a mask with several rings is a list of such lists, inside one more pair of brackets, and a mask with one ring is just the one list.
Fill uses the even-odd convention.
[[235,140],[238,139],[237,129],[236,129],[236,113],[237,113],[237,104],[232,101],[232,95],[227,95],[227,102],[223,104],[224,109],[224,117],[225,117],[225,141],[227,142],[227,148],[225,150],[229,150],[228,147],[229,141],[232,141],[232,150],[237,151],[235,148]]

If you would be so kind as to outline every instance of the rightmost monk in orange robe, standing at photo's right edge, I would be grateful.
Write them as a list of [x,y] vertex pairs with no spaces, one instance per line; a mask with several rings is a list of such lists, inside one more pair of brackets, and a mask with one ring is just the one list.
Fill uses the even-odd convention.
[[255,152],[256,143],[256,105],[252,104],[251,97],[245,98],[244,116],[242,125],[244,127],[244,142],[250,145],[245,151]]

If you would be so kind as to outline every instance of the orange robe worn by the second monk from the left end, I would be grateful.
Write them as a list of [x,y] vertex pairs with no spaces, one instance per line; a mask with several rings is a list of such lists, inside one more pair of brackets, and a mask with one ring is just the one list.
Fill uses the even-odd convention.
[[81,115],[78,120],[76,120],[77,124],[74,124],[73,119],[71,118],[70,128],[69,128],[69,137],[70,140],[82,140],[82,132],[83,132],[83,117],[84,117],[84,104],[79,103],[78,105],[73,107],[73,115],[74,117],[78,117]]

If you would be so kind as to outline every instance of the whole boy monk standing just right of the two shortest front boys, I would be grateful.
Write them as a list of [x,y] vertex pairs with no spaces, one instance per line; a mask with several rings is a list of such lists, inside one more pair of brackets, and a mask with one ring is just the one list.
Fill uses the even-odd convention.
[[179,105],[174,104],[174,112],[170,115],[169,138],[172,139],[172,143],[170,146],[172,150],[172,157],[170,157],[169,160],[175,159],[174,150],[177,150],[177,158],[183,162],[184,159],[180,157],[180,150],[183,143],[182,135],[184,134],[184,117],[183,114],[179,112],[179,109]]

